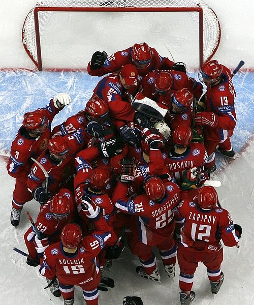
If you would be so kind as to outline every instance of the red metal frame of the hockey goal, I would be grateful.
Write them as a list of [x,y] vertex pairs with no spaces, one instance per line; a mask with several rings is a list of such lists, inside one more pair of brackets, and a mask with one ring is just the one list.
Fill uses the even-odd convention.
[[[34,20],[35,20],[35,35],[36,35],[36,49],[38,61],[30,54],[27,46],[23,43],[24,49],[39,71],[42,71],[42,52],[41,52],[41,38],[40,38],[40,25],[39,13],[40,12],[197,12],[199,13],[199,66],[204,64],[204,35],[203,35],[203,20],[204,13],[201,7],[35,7]],[[214,13],[214,12],[213,12]],[[215,13],[214,13],[215,14]],[[25,24],[25,21],[24,21]],[[219,23],[218,23],[219,24]],[[22,41],[24,39],[22,32]],[[220,42],[220,28],[218,42],[210,56],[206,61],[210,60],[215,54]]]

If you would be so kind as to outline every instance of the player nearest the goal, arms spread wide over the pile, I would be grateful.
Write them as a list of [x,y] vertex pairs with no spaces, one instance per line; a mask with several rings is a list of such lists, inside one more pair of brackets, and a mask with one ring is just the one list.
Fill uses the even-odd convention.
[[108,58],[108,54],[97,51],[92,55],[88,63],[87,71],[92,76],[103,76],[108,73],[119,71],[124,65],[133,64],[138,73],[145,76],[156,69],[173,69],[185,72],[183,63],[173,63],[167,57],[162,57],[158,52],[148,46],[147,43],[135,43],[123,51],[118,51]]

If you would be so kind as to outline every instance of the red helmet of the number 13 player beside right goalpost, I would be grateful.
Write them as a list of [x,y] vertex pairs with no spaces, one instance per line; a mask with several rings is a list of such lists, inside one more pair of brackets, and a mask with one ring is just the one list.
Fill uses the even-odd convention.
[[220,79],[222,71],[223,66],[217,60],[210,60],[210,62],[205,63],[199,70],[199,79],[205,84],[213,84]]

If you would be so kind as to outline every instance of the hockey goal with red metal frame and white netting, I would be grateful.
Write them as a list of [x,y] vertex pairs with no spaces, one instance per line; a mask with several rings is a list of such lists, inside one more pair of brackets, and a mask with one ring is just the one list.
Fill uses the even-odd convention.
[[41,38],[53,12],[188,12],[199,35],[199,65],[216,52],[220,25],[202,0],[44,0],[27,14],[22,29],[25,51],[42,70]]

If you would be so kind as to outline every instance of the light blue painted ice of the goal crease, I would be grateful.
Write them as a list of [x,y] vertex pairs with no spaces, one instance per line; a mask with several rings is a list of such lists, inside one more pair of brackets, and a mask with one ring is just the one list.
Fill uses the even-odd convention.
[[[197,73],[188,74],[197,77]],[[233,78],[237,93],[237,125],[231,140],[236,153],[253,134],[253,78],[254,72],[238,72]],[[87,72],[0,72],[0,154],[8,155],[25,112],[45,106],[57,93],[69,93],[72,104],[63,109],[53,121],[53,126],[60,124],[67,117],[84,109],[99,80],[99,77],[90,76]],[[217,166],[222,166],[223,162],[224,158],[217,156]]]

